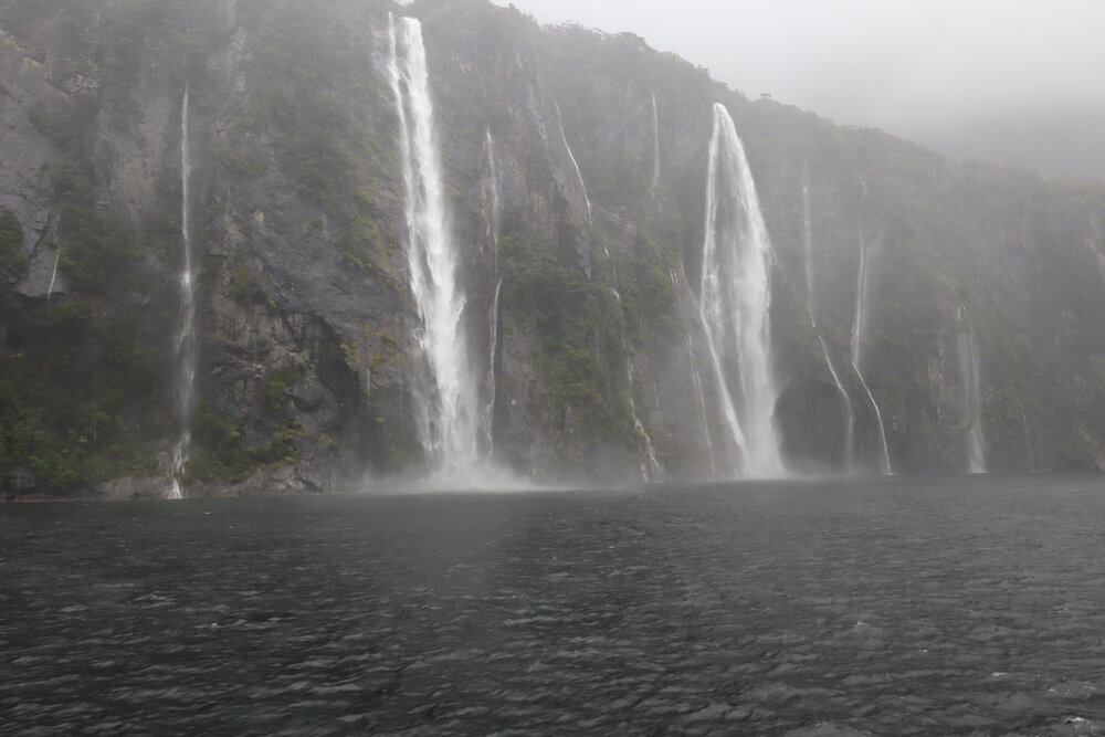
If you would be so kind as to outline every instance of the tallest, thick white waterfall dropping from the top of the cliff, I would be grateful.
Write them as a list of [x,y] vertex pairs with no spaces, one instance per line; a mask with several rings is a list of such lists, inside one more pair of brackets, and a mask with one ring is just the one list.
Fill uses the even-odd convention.
[[406,186],[407,267],[419,318],[415,425],[431,471],[459,481],[478,461],[478,392],[463,330],[465,297],[448,227],[422,27],[389,14],[388,36]]

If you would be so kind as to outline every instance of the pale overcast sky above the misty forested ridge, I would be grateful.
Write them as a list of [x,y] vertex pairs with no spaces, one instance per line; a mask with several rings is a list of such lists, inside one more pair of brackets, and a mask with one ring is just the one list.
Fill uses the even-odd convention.
[[514,4],[541,23],[636,33],[750,97],[903,135],[1030,104],[1105,108],[1105,0]]

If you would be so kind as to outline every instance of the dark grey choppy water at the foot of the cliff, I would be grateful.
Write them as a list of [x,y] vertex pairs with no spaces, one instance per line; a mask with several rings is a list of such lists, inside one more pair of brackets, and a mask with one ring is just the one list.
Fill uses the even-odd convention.
[[1105,734],[1105,482],[0,507],[0,733]]

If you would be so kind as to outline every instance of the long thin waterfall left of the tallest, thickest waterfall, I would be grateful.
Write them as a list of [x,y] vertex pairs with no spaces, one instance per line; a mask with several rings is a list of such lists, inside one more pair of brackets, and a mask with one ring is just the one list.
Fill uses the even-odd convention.
[[180,235],[183,254],[180,269],[180,325],[177,329],[177,442],[172,448],[169,474],[172,486],[169,498],[183,496],[180,475],[188,466],[192,444],[192,410],[196,407],[196,365],[199,340],[196,335],[196,265],[192,246],[191,176],[192,158],[189,140],[188,88],[180,104]]

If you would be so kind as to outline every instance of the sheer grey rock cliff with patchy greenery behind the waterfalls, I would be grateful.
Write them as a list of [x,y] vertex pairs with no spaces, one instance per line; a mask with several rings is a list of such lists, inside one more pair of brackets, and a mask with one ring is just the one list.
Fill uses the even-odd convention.
[[[961,466],[949,357],[959,305],[975,320],[991,467],[1101,463],[1102,186],[948,162],[878,131],[750,102],[634,36],[541,30],[477,1],[400,10],[341,0],[309,12],[291,0],[172,4],[0,3],[0,207],[21,223],[27,256],[0,284],[0,351],[18,352],[17,333],[33,340],[20,326],[46,319],[53,282],[51,304],[93,301],[127,317],[171,373],[188,85],[207,423],[197,442],[209,461],[197,461],[197,493],[350,488],[420,466],[389,10],[423,23],[463,250],[460,324],[477,375],[495,378],[487,450],[501,465],[546,478],[632,477],[643,453],[635,409],[674,476],[711,474],[712,390],[692,369],[703,358],[695,299],[714,102],[744,139],[775,248],[777,419],[793,470],[844,464],[840,393],[810,329],[803,169],[818,328],[853,400],[861,467],[877,443],[846,361],[864,239],[876,242],[864,375],[896,471]],[[70,138],[51,127],[59,120]],[[137,233],[133,274],[95,298],[71,286],[81,274],[65,259],[54,274],[72,223],[60,222],[64,192],[46,172],[64,160],[84,167],[97,217]],[[708,385],[708,372],[698,380]],[[492,386],[482,382],[481,401],[492,402]],[[154,455],[170,442],[170,393],[166,386],[152,413],[160,422],[137,411],[133,420]],[[18,457],[0,466],[9,496],[17,486],[73,493],[28,488],[41,474],[28,476]],[[99,493],[154,493],[145,483]]]

